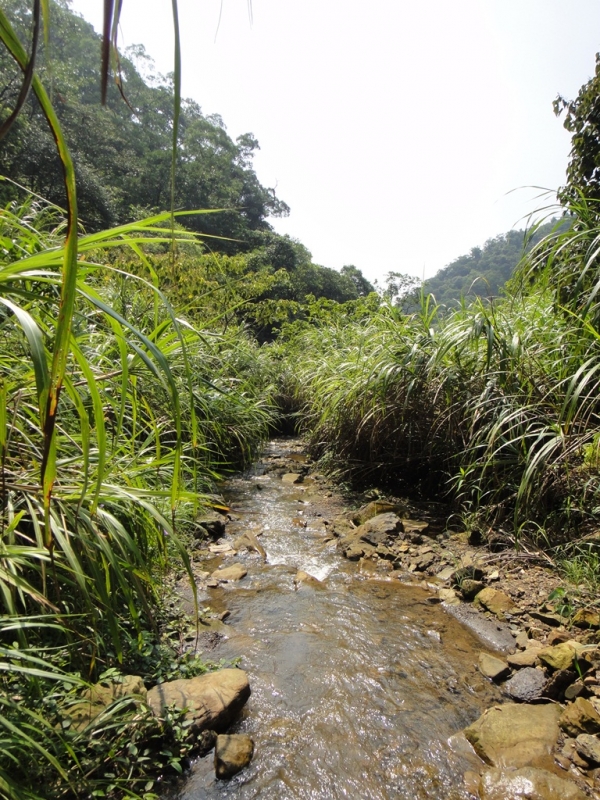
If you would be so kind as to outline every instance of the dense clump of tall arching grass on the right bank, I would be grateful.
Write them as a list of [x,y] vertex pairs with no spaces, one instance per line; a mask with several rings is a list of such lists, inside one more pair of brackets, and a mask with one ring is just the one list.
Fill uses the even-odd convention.
[[[593,213],[592,213],[593,212]],[[572,207],[506,297],[440,314],[341,313],[290,336],[314,451],[341,476],[452,499],[513,533],[596,524],[597,214]]]

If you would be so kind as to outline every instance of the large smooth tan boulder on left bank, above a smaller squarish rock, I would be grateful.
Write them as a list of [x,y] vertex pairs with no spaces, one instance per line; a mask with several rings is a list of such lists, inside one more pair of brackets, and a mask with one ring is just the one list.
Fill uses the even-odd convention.
[[250,684],[241,669],[220,669],[196,678],[158,684],[148,692],[147,703],[157,717],[167,706],[186,708],[185,718],[196,731],[223,730],[250,697]]

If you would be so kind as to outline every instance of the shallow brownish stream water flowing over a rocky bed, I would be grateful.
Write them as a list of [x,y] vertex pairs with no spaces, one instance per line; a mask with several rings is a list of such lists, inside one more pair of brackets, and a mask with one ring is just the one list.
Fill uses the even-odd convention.
[[[254,759],[230,781],[198,759],[179,800],[469,797],[471,756],[448,740],[497,698],[474,667],[481,644],[425,589],[342,558],[326,524],[340,501],[274,470],[294,458],[299,443],[276,440],[228,482],[228,538],[260,535],[267,561],[238,554],[248,576],[201,600],[231,612],[210,655],[242,656],[252,696],[231,732],[252,736]],[[322,585],[298,585],[298,569]]]

